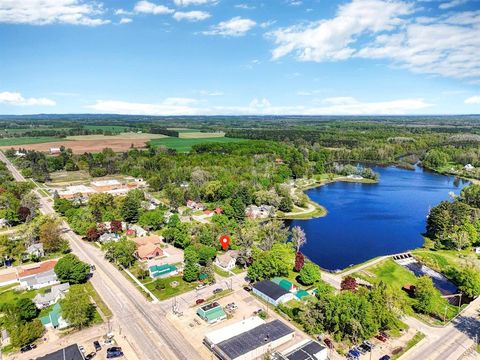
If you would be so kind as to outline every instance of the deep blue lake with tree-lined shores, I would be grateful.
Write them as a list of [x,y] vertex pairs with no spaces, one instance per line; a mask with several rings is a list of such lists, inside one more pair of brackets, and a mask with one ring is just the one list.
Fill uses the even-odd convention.
[[290,226],[304,229],[302,252],[322,268],[343,269],[422,246],[429,209],[469,184],[419,167],[373,170],[380,174],[378,184],[335,182],[306,191],[328,214]]

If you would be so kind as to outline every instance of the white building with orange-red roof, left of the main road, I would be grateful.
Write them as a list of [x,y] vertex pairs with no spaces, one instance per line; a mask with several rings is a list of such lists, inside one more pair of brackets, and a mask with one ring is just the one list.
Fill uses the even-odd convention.
[[20,286],[31,290],[58,284],[54,271],[56,263],[57,260],[49,260],[23,267],[18,276]]

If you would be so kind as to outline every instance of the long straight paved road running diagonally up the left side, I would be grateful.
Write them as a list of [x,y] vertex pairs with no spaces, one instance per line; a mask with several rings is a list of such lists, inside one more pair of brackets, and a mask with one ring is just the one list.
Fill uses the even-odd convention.
[[[22,174],[0,152],[0,161],[7,164],[15,180],[25,181]],[[51,201],[34,190],[40,200],[41,211],[53,214]],[[165,318],[165,310],[148,302],[143,295],[105,260],[104,254],[94,246],[85,244],[68,226],[65,236],[72,251],[83,261],[95,264],[91,281],[113,313],[112,326],[126,336],[138,359],[200,359],[201,356]]]

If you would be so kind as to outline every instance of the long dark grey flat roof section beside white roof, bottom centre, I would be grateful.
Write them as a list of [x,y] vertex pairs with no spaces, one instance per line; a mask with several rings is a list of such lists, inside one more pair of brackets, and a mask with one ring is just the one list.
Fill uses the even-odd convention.
[[273,320],[217,344],[228,358],[235,359],[295,331],[280,320]]

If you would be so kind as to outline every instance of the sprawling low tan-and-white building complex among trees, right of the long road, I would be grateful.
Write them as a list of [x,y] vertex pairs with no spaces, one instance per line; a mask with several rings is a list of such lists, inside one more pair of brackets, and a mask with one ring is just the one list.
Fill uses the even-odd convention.
[[130,190],[145,187],[146,183],[142,178],[135,178],[131,181],[120,182],[119,180],[98,180],[92,181],[90,186],[72,185],[58,191],[58,195],[67,200],[88,197],[95,193],[106,193],[113,196],[126,195]]

